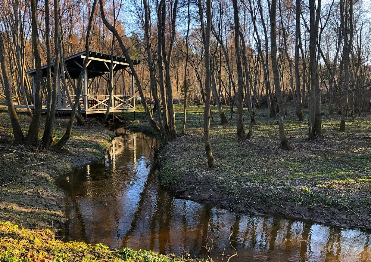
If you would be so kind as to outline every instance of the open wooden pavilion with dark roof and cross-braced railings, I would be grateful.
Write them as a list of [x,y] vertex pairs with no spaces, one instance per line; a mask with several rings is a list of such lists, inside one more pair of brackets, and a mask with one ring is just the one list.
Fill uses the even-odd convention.
[[[86,51],[81,53],[75,54],[73,56],[65,58],[66,68],[72,80],[76,80],[79,78],[81,68],[83,65],[84,60],[86,59]],[[96,113],[105,113],[107,107],[109,107],[109,112],[135,112],[135,90],[134,90],[134,77],[129,70],[129,64],[125,57],[119,56],[111,56],[109,54],[99,53],[95,51],[89,51],[89,56],[87,58],[88,65],[86,67],[86,72],[83,78],[83,87],[81,92],[81,111],[82,113],[88,114],[96,114]],[[113,67],[113,74],[119,70],[125,70],[130,75],[130,93],[128,95],[118,94],[116,93],[115,84],[112,83],[114,86],[114,96],[112,97],[111,104],[109,103],[109,94],[97,94],[91,92],[91,83],[96,77],[103,77],[106,81],[111,79],[109,68],[111,66],[112,60],[112,67]],[[132,60],[134,65],[140,63],[139,60]],[[42,74],[46,76],[47,66],[44,65],[42,67]],[[54,63],[52,63],[52,72],[54,72]],[[35,94],[35,77],[36,77],[36,69],[30,70],[26,72],[26,75],[29,75],[33,78],[33,94]],[[75,94],[69,92],[68,87],[65,87],[60,80],[62,74],[59,74],[59,81],[58,81],[58,91],[57,91],[57,105],[56,105],[56,112],[68,112],[71,111],[71,104],[70,100],[74,100]],[[53,77],[53,75],[52,75]],[[67,78],[67,76],[66,76]],[[112,77],[113,79],[113,77]],[[114,82],[114,81],[113,81]],[[43,110],[46,110],[46,93],[43,94],[42,101],[43,101]],[[33,95],[33,104],[35,104],[35,95]],[[14,105],[16,108],[24,108],[26,105]],[[33,108],[33,106],[30,106]]]

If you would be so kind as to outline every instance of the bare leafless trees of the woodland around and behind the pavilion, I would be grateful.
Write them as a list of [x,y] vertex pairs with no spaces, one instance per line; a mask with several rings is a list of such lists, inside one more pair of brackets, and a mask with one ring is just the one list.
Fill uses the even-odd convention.
[[[77,94],[66,138],[73,118],[83,124],[76,103],[82,78],[77,84],[69,79],[64,58],[89,49],[127,58],[148,121],[164,144],[177,136],[175,103],[184,104],[183,133],[187,104],[205,105],[209,167],[215,165],[210,118],[228,124],[236,117],[237,139],[246,140],[256,123],[255,110],[267,107],[270,117],[278,116],[282,147],[290,150],[284,123],[289,103],[298,121],[306,120],[303,107],[308,107],[309,139],[322,137],[324,103],[329,114],[341,115],[339,131],[346,130],[349,117],[371,112],[371,21],[362,0],[5,0],[0,12],[1,84],[17,143],[40,143],[41,101],[47,94],[42,146],[58,149],[63,144],[52,142],[58,85],[52,75],[59,72]],[[141,65],[134,67],[130,58]],[[58,65],[54,72],[52,61]],[[40,74],[42,64],[48,66],[46,76]],[[36,83],[31,83],[24,72],[35,67]],[[126,94],[124,74],[110,82]],[[91,85],[96,93],[112,93],[99,79]],[[20,129],[14,100],[27,101],[32,117],[27,135]],[[211,105],[217,106],[218,117],[211,115]],[[229,105],[229,113],[223,105]]]

